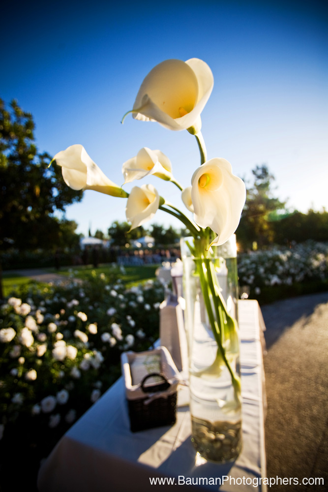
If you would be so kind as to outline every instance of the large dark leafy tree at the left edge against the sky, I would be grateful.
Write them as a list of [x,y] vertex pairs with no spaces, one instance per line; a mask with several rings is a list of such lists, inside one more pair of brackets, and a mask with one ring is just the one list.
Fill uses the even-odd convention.
[[32,115],[17,101],[9,110],[0,99],[0,249],[47,247],[59,238],[56,210],[79,201],[82,191],[69,188],[51,156],[38,153]]

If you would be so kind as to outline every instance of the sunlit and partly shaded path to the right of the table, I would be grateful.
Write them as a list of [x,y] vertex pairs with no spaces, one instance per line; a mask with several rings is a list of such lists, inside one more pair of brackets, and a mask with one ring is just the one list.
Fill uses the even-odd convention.
[[267,476],[325,481],[269,490],[328,491],[328,292],[261,309],[268,349]]

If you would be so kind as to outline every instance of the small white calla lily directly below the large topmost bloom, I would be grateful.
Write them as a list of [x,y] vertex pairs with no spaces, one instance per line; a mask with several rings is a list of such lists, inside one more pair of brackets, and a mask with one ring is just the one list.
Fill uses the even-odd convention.
[[161,151],[152,151],[148,147],[143,147],[135,157],[124,162],[122,173],[124,184],[141,180],[150,174],[165,181],[173,178],[170,159]]

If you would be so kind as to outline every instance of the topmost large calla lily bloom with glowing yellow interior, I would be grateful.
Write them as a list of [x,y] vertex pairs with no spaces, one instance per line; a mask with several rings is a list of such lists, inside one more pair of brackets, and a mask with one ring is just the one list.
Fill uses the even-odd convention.
[[186,62],[166,60],[156,65],[144,79],[132,116],[136,120],[157,121],[170,130],[201,129],[200,114],[213,88],[209,65],[198,58]]

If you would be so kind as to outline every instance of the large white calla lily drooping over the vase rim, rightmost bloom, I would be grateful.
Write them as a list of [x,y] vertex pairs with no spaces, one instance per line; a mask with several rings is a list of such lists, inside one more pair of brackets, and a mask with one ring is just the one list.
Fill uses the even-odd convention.
[[230,162],[214,158],[196,169],[191,184],[195,222],[217,234],[211,246],[222,245],[238,227],[246,199],[244,182],[232,174]]

